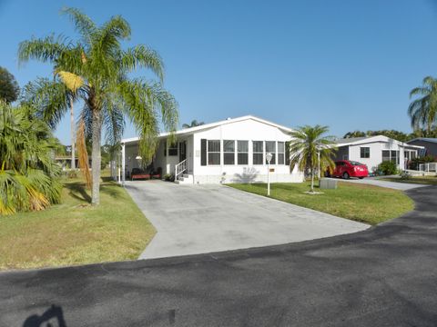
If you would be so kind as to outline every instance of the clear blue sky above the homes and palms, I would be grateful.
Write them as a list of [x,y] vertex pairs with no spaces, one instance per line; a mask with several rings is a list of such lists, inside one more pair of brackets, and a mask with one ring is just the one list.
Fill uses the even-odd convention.
[[[126,45],[163,57],[181,124],[254,114],[290,127],[327,124],[339,136],[410,132],[409,92],[435,75],[437,1],[0,0],[0,65],[20,85],[51,74],[49,64],[18,66],[21,41],[76,36],[63,6],[99,24],[123,15],[133,32]],[[125,136],[135,134],[127,125]],[[67,120],[56,135],[69,144]]]

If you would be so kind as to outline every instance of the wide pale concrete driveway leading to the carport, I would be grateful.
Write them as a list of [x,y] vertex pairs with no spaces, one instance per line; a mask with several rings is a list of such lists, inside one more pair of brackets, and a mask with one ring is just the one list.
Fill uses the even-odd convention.
[[127,183],[158,233],[140,259],[294,243],[369,227],[222,185]]

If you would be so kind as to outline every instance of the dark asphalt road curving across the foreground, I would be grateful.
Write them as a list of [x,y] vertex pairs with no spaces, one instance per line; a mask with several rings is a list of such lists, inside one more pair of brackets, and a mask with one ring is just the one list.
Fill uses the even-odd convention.
[[360,233],[234,253],[3,272],[0,325],[435,326],[437,188],[407,193],[414,212]]

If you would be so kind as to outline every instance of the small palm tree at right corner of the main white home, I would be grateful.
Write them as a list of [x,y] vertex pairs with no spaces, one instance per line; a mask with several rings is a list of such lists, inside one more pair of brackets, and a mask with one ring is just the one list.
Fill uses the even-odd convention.
[[328,126],[305,125],[291,132],[290,141],[290,170],[298,167],[300,171],[310,170],[311,193],[314,193],[314,172],[318,166],[334,167],[332,161],[336,146],[332,136],[322,136],[328,132]]

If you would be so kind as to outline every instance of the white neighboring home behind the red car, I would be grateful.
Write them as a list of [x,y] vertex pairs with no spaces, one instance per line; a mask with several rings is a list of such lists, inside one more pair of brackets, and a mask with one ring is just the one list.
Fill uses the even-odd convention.
[[352,160],[375,171],[378,165],[392,161],[399,169],[408,169],[408,163],[422,151],[422,146],[405,144],[387,136],[354,137],[336,141],[339,150],[336,160]]

